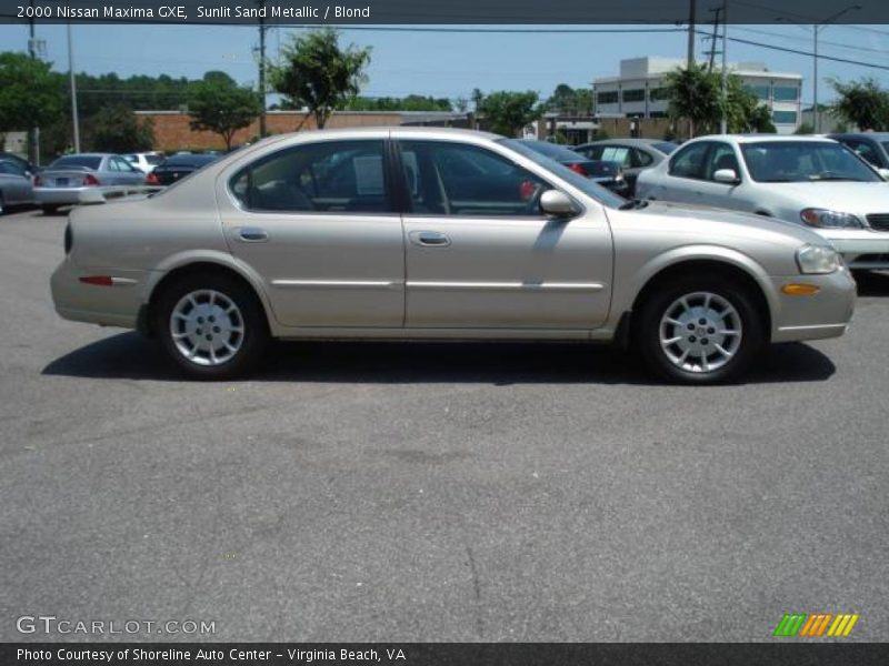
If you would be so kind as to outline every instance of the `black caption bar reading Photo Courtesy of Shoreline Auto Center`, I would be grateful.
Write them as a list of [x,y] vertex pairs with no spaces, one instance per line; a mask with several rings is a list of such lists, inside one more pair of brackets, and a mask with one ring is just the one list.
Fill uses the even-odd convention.
[[30,643],[0,665],[93,666],[870,666],[887,643]]

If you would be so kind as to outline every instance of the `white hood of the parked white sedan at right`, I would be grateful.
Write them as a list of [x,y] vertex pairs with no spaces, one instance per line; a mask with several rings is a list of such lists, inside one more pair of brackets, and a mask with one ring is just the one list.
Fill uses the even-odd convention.
[[760,183],[769,191],[802,208],[825,208],[849,213],[889,213],[889,183],[811,181],[803,183]]

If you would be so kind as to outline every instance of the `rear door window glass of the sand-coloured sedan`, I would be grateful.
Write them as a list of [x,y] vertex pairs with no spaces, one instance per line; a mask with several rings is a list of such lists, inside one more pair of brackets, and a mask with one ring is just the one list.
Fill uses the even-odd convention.
[[319,141],[273,153],[231,180],[247,209],[290,212],[391,211],[382,141]]

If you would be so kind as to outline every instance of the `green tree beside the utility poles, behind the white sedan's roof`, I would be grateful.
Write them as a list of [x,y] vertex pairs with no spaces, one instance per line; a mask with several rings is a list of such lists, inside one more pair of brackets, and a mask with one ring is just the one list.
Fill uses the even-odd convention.
[[692,62],[688,68],[669,72],[665,88],[670,117],[688,120],[689,139],[712,132],[719,124],[721,81],[718,73]]

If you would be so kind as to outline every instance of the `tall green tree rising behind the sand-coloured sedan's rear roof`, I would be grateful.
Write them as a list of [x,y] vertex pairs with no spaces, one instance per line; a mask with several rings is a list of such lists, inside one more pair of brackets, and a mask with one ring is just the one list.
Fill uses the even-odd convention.
[[281,62],[270,68],[272,88],[287,95],[287,104],[308,107],[319,129],[367,82],[370,49],[354,44],[341,49],[339,32],[332,28],[293,37],[281,54]]

